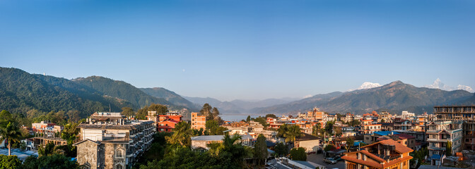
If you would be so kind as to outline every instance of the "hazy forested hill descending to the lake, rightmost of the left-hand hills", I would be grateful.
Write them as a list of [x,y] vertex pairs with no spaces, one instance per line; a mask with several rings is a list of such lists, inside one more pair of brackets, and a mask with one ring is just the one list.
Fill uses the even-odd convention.
[[184,99],[182,96],[162,87],[153,88],[139,88],[142,92],[158,98],[163,98],[177,106],[185,106],[191,108],[192,111],[199,111],[199,107],[194,105],[191,101]]

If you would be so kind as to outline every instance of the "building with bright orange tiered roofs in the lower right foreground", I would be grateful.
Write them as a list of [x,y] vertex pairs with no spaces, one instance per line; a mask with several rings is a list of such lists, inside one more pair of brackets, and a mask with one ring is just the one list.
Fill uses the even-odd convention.
[[346,169],[380,168],[409,169],[409,153],[412,149],[392,139],[361,146],[362,150],[346,153],[341,159]]

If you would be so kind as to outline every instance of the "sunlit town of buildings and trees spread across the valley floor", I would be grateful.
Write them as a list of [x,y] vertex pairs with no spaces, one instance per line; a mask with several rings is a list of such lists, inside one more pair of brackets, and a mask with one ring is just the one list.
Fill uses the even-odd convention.
[[[8,111],[2,115],[8,117]],[[16,156],[18,166],[59,154],[73,168],[153,168],[166,157],[144,163],[145,156],[160,154],[154,152],[157,146],[169,144],[211,158],[225,151],[236,157],[218,168],[475,168],[475,106],[434,106],[433,113],[421,115],[332,114],[313,108],[295,116],[268,114],[232,122],[205,104],[189,115],[183,120],[177,111],[148,111],[146,119],[136,120],[120,112],[95,112],[73,126],[41,121],[20,129],[5,118],[2,131],[10,134],[1,133],[0,153]],[[26,131],[27,138],[11,130]],[[154,144],[159,139],[163,145]]]

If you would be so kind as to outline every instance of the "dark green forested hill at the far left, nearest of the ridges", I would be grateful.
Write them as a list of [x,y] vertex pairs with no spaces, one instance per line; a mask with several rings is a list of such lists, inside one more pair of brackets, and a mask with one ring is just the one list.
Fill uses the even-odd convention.
[[17,68],[0,68],[0,108],[12,113],[25,113],[31,109],[45,112],[77,110],[85,117],[90,112],[109,110],[109,104],[113,111],[132,106],[127,101],[95,94],[66,79],[32,75]]

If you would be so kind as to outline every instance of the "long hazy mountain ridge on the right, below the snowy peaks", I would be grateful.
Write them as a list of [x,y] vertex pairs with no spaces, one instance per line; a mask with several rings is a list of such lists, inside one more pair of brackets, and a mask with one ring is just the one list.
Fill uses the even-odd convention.
[[[365,113],[373,110],[389,110],[392,113],[412,111],[431,113],[432,106],[459,104],[474,94],[464,90],[445,91],[414,87],[401,81],[391,82],[382,87],[360,89],[353,92],[319,94],[317,99],[303,99],[289,104],[256,109],[256,113],[287,113],[310,110],[313,106],[332,113]],[[322,98],[322,96],[325,96]],[[315,97],[315,96],[314,96]],[[312,97],[312,98],[314,98]],[[471,104],[474,104],[473,102]]]

